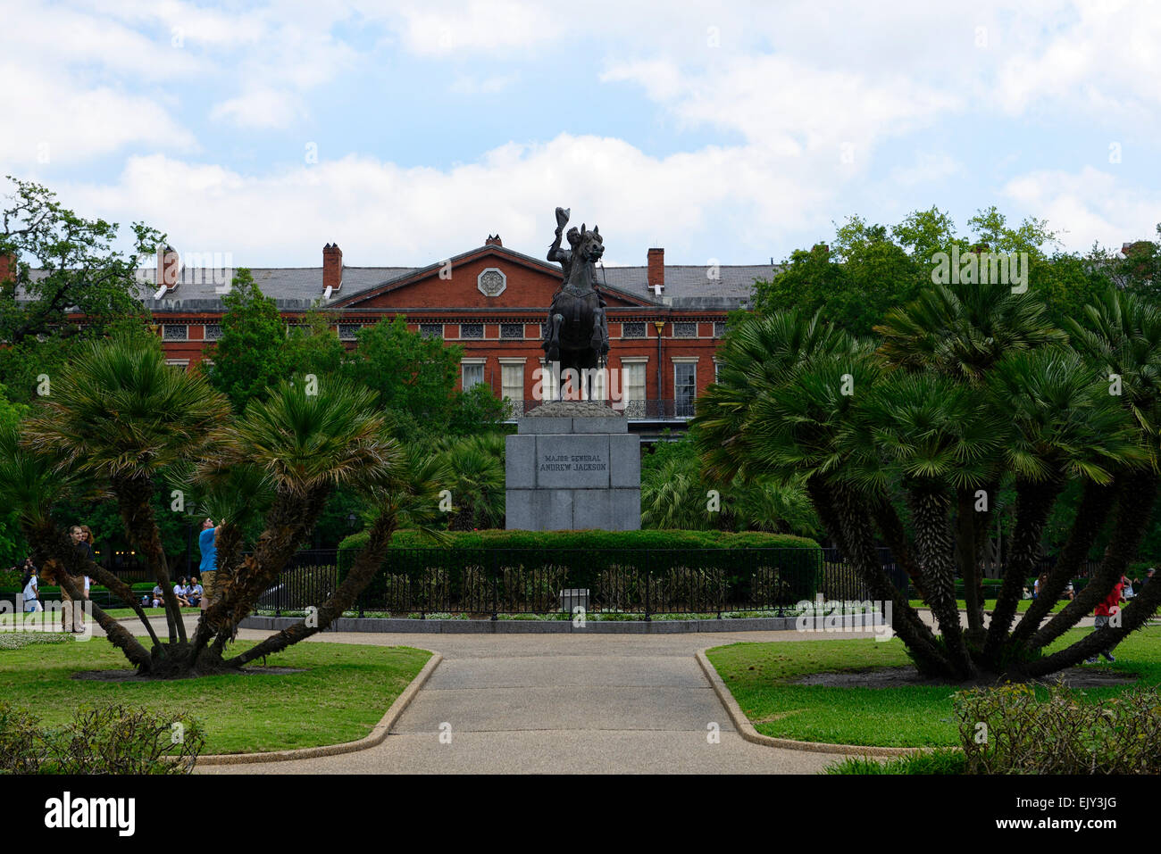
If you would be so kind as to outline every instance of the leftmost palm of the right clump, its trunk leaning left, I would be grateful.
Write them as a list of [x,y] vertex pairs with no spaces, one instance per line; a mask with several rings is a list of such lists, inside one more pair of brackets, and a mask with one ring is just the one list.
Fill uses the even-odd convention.
[[[854,426],[857,401],[881,374],[867,345],[819,316],[787,311],[755,317],[727,338],[719,381],[700,398],[693,428],[711,477],[736,472],[748,483],[805,484],[823,529],[872,595],[893,603],[895,629],[921,670],[950,673],[952,665],[931,630],[884,571],[864,515],[874,507],[882,514],[881,531],[902,530],[885,498],[886,468],[873,473],[872,457],[860,450],[866,427]],[[854,454],[864,457],[858,480],[846,470]],[[892,545],[922,582],[907,544]]]

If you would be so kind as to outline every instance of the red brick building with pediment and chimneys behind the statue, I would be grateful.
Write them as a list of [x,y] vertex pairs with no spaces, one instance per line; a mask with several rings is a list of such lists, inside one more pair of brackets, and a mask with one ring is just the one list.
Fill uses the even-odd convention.
[[[143,302],[171,362],[193,366],[221,334],[221,295],[231,272],[183,268],[176,253],[164,268],[160,276],[143,276]],[[463,347],[461,385],[486,383],[512,401],[514,414],[540,403],[541,324],[561,269],[503,246],[499,237],[419,268],[348,267],[341,249],[327,244],[320,267],[252,273],[288,323],[320,302],[353,347],[360,326],[402,314],[409,328]],[[749,307],[755,278],[771,274],[765,265],[666,266],[659,248],[648,251],[642,267],[598,268],[608,303],[608,367],[620,371],[611,390],[622,392],[635,432],[684,426],[694,397],[714,381],[727,313]]]

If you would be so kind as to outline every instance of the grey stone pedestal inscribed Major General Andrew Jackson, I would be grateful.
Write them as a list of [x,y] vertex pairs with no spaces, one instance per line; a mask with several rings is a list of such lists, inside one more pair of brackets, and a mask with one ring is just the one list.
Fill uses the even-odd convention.
[[553,401],[506,439],[509,530],[641,528],[641,440],[601,404]]

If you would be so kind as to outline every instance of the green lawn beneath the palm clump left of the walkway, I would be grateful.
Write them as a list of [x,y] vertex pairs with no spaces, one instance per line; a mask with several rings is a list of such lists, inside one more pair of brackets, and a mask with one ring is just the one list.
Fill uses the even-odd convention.
[[[239,640],[244,650],[251,642]],[[84,702],[186,711],[205,730],[204,753],[252,753],[353,741],[368,734],[431,653],[408,646],[301,643],[269,666],[303,673],[204,676],[159,682],[75,680],[77,671],[128,670],[102,638],[0,649],[0,700],[53,725]]]

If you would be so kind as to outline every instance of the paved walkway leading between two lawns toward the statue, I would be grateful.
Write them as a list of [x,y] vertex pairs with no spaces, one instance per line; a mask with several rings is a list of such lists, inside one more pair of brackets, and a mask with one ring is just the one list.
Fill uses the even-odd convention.
[[[243,630],[239,638],[267,634]],[[738,640],[810,637],[323,632],[305,643],[420,646],[444,661],[377,747],[200,773],[816,773],[841,757],[745,741],[694,659],[699,649]],[[709,724],[720,729],[716,744]]]

